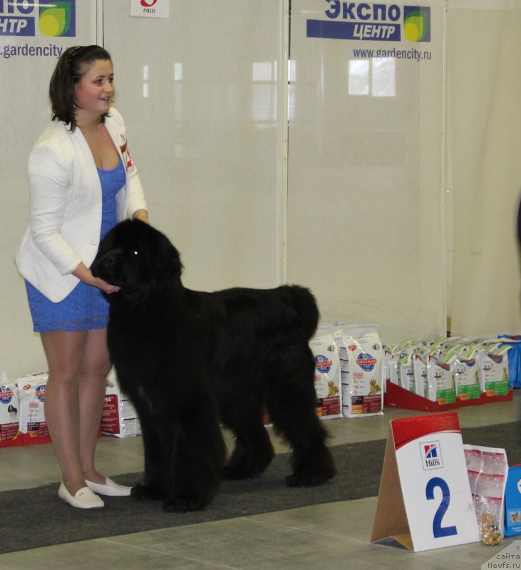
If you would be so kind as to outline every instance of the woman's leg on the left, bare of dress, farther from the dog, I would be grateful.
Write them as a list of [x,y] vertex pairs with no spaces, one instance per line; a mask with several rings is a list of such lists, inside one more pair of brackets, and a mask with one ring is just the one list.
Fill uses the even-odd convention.
[[41,333],[49,368],[44,404],[46,423],[63,484],[72,495],[86,485],[80,459],[79,377],[87,338],[87,331]]

